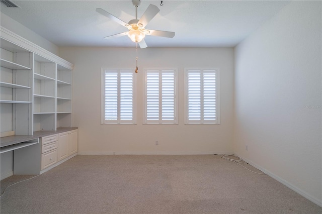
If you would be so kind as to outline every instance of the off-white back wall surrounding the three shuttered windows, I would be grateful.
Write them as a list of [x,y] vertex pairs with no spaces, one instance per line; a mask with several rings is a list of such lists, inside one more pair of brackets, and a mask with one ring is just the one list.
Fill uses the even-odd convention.
[[[73,63],[73,126],[79,154],[232,152],[233,49],[138,49],[137,125],[101,125],[101,68],[135,68],[135,48],[60,48]],[[142,125],[142,68],[178,68],[179,125]],[[220,69],[220,125],[184,125],[184,68]],[[155,141],[159,145],[155,145]]]

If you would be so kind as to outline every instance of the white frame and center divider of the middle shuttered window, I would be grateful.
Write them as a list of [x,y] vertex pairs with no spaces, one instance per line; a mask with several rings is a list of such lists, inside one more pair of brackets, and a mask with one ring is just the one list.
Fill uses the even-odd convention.
[[[178,125],[178,68],[144,68],[143,69],[143,125]],[[162,76],[162,72],[173,71],[174,73],[174,120],[162,120],[162,109],[159,109],[158,120],[147,120],[147,72],[155,72]],[[162,79],[159,79],[159,83]],[[160,91],[159,85],[159,94]],[[159,106],[162,105],[162,96],[159,95]]]

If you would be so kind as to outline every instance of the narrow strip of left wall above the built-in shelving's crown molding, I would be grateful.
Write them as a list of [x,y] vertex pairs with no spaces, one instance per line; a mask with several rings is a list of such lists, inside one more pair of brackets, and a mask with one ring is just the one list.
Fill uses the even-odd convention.
[[1,13],[1,26],[50,51],[51,53],[58,55],[58,46],[3,13]]

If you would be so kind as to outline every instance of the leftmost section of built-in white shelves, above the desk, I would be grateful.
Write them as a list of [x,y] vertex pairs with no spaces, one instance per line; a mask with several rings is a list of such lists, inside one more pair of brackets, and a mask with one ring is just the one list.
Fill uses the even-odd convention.
[[33,54],[1,39],[1,132],[31,135]]

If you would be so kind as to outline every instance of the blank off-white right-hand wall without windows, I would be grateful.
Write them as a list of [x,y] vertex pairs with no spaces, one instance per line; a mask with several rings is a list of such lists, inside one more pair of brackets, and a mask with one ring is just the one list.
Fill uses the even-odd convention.
[[235,153],[319,205],[321,57],[320,1],[291,2],[235,47]]

